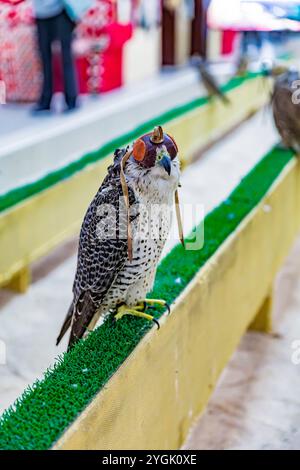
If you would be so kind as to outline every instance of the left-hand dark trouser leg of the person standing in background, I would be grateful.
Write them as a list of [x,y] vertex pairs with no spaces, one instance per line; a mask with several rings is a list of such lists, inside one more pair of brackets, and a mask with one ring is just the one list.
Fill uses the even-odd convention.
[[38,107],[49,109],[52,93],[53,93],[53,83],[52,83],[52,53],[51,53],[51,43],[52,43],[52,31],[51,31],[51,21],[48,19],[37,19],[37,30],[38,30],[38,42],[40,55],[42,59],[42,69],[43,69],[43,87],[41,96],[38,102]]

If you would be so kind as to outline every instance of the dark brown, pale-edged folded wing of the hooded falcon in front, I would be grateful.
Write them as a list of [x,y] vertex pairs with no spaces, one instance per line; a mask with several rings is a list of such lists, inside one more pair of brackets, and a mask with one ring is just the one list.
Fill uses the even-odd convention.
[[[122,155],[124,151],[121,151]],[[68,312],[58,338],[60,341],[72,325],[69,346],[83,337],[127,261],[127,214],[125,205],[120,205],[123,192],[119,162],[120,158],[117,158],[109,168],[81,227],[72,311]],[[135,196],[130,187],[129,200],[133,205]]]

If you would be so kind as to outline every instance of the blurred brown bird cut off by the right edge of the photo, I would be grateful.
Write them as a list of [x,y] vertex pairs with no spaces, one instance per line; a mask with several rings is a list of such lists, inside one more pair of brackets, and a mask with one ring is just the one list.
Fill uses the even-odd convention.
[[284,146],[300,153],[300,74],[281,67],[271,75],[275,78],[271,98],[275,125]]

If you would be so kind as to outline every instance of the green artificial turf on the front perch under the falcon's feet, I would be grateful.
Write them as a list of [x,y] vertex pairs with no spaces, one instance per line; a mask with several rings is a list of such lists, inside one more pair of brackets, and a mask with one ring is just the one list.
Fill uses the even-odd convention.
[[[224,240],[266,194],[293,158],[273,149],[231,195],[205,217],[200,251],[181,245],[161,262],[151,296],[172,303]],[[162,311],[156,311],[156,316]],[[45,377],[28,388],[0,419],[0,449],[48,449],[99,392],[152,327],[144,319],[112,318],[57,360]],[[159,332],[157,333],[159,334]]]

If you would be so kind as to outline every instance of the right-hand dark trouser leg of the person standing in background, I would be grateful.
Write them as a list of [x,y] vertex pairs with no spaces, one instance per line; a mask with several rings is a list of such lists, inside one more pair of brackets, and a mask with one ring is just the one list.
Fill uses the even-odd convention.
[[57,34],[61,43],[64,72],[65,100],[69,109],[76,107],[77,80],[72,56],[74,23],[63,12],[57,20]]

